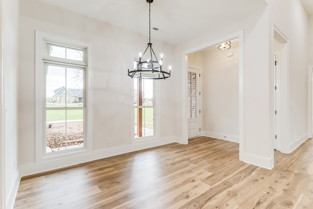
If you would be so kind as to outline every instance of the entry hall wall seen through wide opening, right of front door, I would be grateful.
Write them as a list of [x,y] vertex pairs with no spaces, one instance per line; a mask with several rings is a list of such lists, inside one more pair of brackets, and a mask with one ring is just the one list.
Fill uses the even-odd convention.
[[201,79],[203,134],[239,142],[239,46],[204,55]]

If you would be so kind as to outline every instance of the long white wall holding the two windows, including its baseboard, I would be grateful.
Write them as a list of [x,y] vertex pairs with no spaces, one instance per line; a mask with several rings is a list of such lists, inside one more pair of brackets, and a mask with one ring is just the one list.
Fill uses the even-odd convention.
[[[154,50],[163,53],[172,76],[160,80],[161,136],[149,144],[131,143],[133,92],[127,69],[133,56],[144,50],[149,38],[107,23],[69,12],[35,0],[21,1],[20,9],[20,164],[21,175],[87,162],[177,140],[175,122],[175,48],[152,40]],[[93,58],[93,151],[88,156],[35,163],[35,30],[92,44]],[[107,144],[106,139],[112,138]]]

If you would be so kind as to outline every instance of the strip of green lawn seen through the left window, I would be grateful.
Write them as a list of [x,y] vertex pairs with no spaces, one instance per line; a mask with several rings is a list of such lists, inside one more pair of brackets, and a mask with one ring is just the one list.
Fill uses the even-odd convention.
[[78,120],[84,119],[84,110],[47,110],[46,121],[58,121],[58,120]]

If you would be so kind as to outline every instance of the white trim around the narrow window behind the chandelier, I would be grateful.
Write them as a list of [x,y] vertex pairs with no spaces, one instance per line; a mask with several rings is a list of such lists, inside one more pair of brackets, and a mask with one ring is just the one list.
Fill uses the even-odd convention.
[[[139,61],[139,57],[133,56],[132,59],[132,69],[134,68],[134,61]],[[160,139],[160,80],[154,80],[153,86],[153,100],[154,100],[154,135],[147,136],[147,137],[140,137],[135,138],[135,131],[134,131],[134,79],[131,82],[131,104],[132,104],[132,111],[131,111],[131,120],[132,120],[132,144],[136,143],[146,143],[149,141],[155,141]]]

